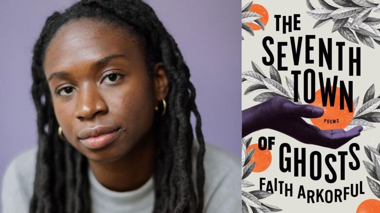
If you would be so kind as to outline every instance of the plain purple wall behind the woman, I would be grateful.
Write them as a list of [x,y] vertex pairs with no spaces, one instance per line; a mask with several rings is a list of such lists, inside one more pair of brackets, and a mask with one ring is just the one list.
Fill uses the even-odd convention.
[[[37,145],[36,110],[30,93],[33,45],[47,16],[74,2],[1,0],[1,180],[12,158]],[[147,2],[173,35],[190,67],[205,140],[239,154],[241,5],[231,0]]]

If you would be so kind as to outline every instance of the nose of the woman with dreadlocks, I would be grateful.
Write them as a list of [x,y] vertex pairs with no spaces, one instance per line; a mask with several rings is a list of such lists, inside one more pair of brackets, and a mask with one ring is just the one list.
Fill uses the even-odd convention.
[[96,115],[108,112],[108,107],[96,85],[86,84],[79,89],[77,94],[77,106],[75,116],[79,120],[92,119]]

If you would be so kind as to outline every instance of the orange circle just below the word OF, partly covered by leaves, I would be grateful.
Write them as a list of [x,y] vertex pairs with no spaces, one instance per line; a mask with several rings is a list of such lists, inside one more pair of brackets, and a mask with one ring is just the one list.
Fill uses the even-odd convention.
[[265,171],[269,167],[270,163],[272,163],[272,154],[269,149],[266,148],[265,150],[260,150],[259,144],[252,144],[247,148],[246,152],[248,153],[251,149],[255,149],[255,152],[253,153],[252,159],[249,163],[256,162],[252,172]]

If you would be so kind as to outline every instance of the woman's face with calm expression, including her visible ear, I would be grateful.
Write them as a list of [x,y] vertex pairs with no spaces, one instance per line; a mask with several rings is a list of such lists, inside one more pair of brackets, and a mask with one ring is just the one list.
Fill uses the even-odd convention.
[[54,112],[68,142],[87,158],[117,160],[152,138],[167,79],[157,64],[152,81],[144,59],[133,36],[96,20],[71,21],[51,40],[43,67]]

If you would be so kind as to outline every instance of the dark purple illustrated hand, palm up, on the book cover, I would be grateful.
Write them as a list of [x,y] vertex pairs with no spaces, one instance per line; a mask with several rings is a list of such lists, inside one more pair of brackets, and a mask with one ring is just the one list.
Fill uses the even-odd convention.
[[300,105],[274,97],[243,111],[243,137],[261,129],[272,129],[287,134],[305,144],[338,148],[360,135],[361,126],[349,131],[320,130],[302,119],[323,115],[323,109],[312,105]]

